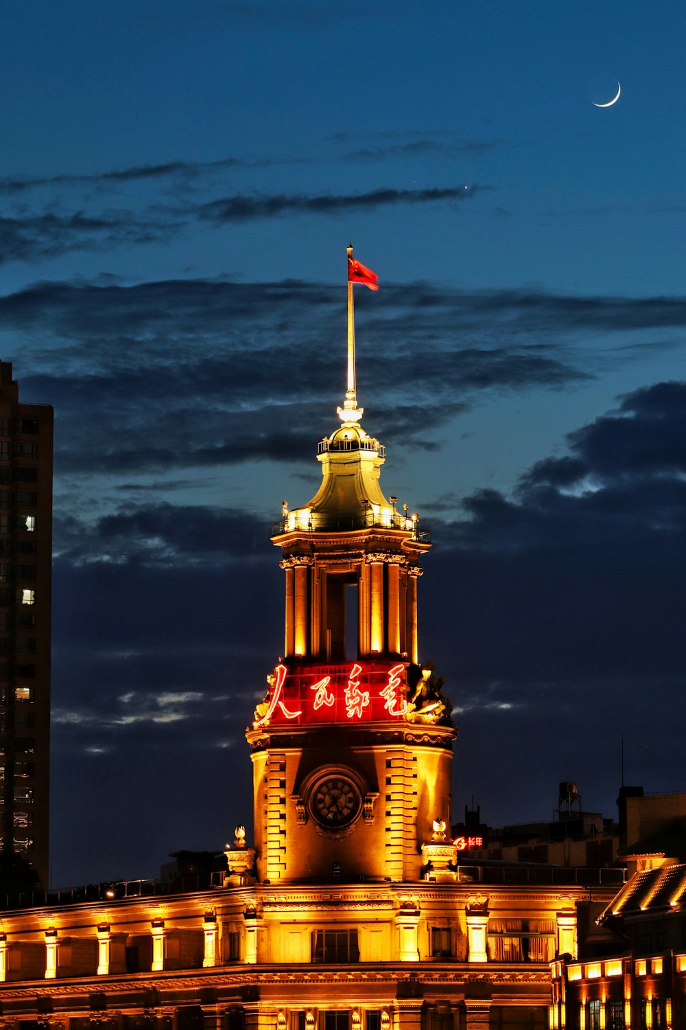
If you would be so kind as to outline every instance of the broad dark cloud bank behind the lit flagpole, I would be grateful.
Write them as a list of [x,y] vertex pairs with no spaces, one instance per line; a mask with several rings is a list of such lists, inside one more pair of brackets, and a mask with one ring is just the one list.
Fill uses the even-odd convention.
[[[428,307],[431,333],[419,316]],[[338,351],[333,360],[326,342],[344,317],[338,288],[296,281],[39,283],[0,300],[0,315],[15,343],[42,341],[33,375],[23,349],[22,389],[56,407],[62,473],[304,458],[313,439],[330,430],[325,413],[340,403],[345,355]],[[503,334],[496,342],[491,328],[477,331],[460,295],[423,284],[389,288],[383,316],[367,317],[359,347],[360,397],[375,384],[370,428],[386,443],[435,448],[431,431],[485,390],[559,388],[587,375],[564,347],[523,343],[521,336],[517,330],[514,339]],[[257,432],[247,432],[246,412]],[[113,435],[115,423],[127,432]]]

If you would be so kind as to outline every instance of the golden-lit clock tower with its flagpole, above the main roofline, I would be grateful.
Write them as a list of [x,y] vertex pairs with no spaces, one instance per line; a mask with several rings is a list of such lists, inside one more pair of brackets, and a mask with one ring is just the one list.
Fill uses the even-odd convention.
[[270,883],[418,880],[434,820],[449,825],[456,731],[419,661],[417,587],[431,544],[418,516],[382,493],[384,447],[362,413],[349,276],[341,424],[319,444],[319,490],[284,505],[272,538],[286,577],[284,656],[247,732],[258,879]]

